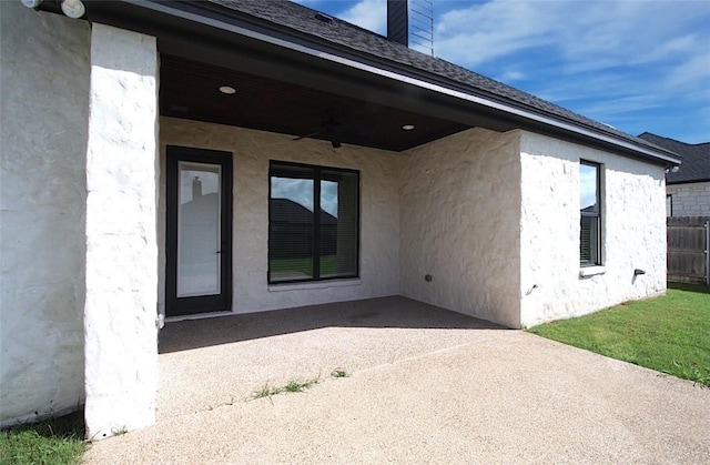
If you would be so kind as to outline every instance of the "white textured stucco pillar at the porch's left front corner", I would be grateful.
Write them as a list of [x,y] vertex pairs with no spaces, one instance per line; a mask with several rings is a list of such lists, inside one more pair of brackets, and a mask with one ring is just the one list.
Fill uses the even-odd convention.
[[87,436],[155,422],[158,50],[94,23],[87,149]]

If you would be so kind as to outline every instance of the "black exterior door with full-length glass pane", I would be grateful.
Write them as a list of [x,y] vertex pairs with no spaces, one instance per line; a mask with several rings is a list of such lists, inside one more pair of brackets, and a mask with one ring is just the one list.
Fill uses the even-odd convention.
[[165,315],[232,307],[232,153],[168,146]]

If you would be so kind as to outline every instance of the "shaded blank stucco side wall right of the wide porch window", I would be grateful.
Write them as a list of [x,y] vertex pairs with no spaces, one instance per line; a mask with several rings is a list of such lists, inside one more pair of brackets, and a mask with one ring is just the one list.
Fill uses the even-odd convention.
[[403,295],[519,326],[518,138],[474,129],[404,155]]

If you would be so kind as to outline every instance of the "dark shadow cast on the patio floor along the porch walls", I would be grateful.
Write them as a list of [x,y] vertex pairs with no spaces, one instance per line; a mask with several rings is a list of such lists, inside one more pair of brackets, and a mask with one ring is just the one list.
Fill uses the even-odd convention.
[[473,316],[393,296],[169,322],[160,332],[159,352],[165,354],[333,326],[507,330]]

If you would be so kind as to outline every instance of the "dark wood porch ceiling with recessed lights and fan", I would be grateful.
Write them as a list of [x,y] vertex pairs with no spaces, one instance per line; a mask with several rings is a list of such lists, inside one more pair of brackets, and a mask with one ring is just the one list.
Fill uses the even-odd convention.
[[[332,111],[339,142],[402,151],[470,128],[457,122],[357,100],[315,87],[161,55],[162,115],[251,128],[295,137],[322,130]],[[221,85],[236,90],[220,92]],[[405,131],[404,124],[414,130]],[[329,141],[325,132],[314,139]],[[294,143],[297,143],[294,141]]]

